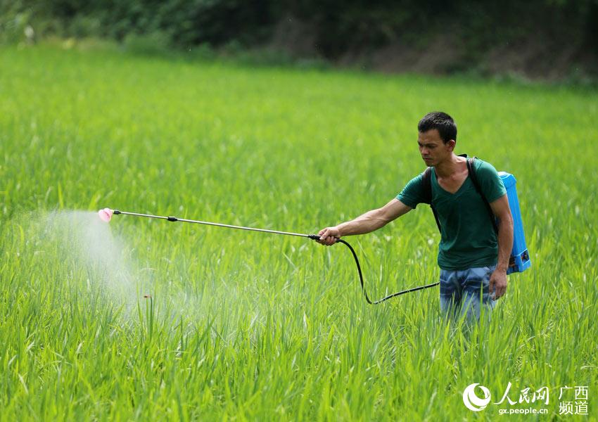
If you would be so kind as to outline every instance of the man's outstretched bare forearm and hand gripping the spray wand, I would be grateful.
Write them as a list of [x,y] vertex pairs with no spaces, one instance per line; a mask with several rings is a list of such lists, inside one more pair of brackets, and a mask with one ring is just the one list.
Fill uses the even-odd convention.
[[388,204],[376,210],[366,212],[350,222],[338,224],[338,226],[326,227],[319,231],[320,243],[332,245],[337,238],[351,234],[366,234],[380,229],[382,226],[393,221],[412,210],[400,200],[394,198]]

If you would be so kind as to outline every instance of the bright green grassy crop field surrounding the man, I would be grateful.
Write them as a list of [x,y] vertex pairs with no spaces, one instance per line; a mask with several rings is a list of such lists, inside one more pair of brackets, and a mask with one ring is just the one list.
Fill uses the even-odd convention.
[[[5,46],[0,96],[1,420],[540,409],[464,407],[467,385],[495,402],[509,381],[550,388],[523,420],[557,417],[564,385],[597,419],[596,91]],[[441,323],[437,288],[367,305],[341,245],[91,213],[313,233],[423,170],[430,110],[518,179],[533,267],[471,331]],[[373,298],[436,281],[438,240],[424,206],[348,238]]]

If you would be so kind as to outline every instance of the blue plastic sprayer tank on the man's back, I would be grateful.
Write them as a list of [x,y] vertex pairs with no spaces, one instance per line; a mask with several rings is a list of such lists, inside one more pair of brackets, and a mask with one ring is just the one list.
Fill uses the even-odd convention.
[[507,274],[522,272],[531,267],[532,263],[526,246],[526,235],[523,234],[523,221],[521,221],[521,210],[519,210],[519,199],[515,187],[517,181],[513,174],[507,172],[499,172],[498,175],[502,180],[502,184],[504,184],[504,188],[507,189],[507,198],[513,216],[513,250],[511,250]]

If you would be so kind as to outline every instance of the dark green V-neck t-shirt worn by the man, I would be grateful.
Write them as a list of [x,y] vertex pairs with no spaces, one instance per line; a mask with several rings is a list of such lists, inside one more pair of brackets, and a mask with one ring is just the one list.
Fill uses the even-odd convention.
[[[474,161],[478,184],[491,203],[507,193],[496,169],[488,162]],[[397,195],[405,205],[415,208],[424,202],[423,174],[414,177]],[[438,266],[450,271],[490,267],[497,263],[498,241],[488,208],[467,177],[455,193],[448,193],[431,174],[432,203],[440,220],[441,236]]]

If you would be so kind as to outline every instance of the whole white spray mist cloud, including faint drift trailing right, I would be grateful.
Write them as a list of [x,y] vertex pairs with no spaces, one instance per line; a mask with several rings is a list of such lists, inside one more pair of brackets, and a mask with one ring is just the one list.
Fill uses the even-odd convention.
[[[216,289],[214,280],[207,283],[197,274],[191,276],[186,266],[165,257],[160,245],[147,246],[140,254],[134,239],[120,234],[97,212],[30,213],[11,222],[7,234],[4,241],[12,242],[13,249],[18,250],[15,259],[29,270],[30,286],[37,290],[40,285],[54,283],[61,306],[83,307],[94,302],[98,307],[115,309],[125,321],[144,319],[149,306],[163,321],[206,312],[217,314],[213,318],[218,320],[227,314],[222,309],[255,317],[259,307],[257,295],[240,298],[235,286],[227,286],[234,277],[220,279]],[[145,260],[140,262],[138,255],[144,255]],[[49,267],[53,268],[51,279],[42,275]],[[191,286],[190,278],[195,286]]]

